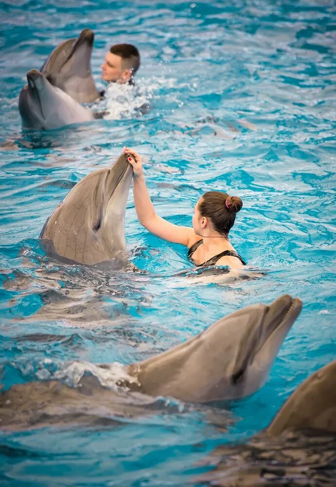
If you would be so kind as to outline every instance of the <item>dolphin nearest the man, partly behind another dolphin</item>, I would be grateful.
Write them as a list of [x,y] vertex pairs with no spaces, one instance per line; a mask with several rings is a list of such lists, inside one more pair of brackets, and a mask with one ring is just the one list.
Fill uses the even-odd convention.
[[77,39],[61,42],[41,68],[48,81],[78,103],[92,103],[100,97],[91,74],[94,34],[84,29]]

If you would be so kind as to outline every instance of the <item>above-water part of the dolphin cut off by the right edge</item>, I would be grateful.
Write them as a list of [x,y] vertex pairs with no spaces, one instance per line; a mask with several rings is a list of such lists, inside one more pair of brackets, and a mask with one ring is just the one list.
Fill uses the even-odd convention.
[[315,429],[336,432],[336,360],[306,379],[287,399],[267,432]]

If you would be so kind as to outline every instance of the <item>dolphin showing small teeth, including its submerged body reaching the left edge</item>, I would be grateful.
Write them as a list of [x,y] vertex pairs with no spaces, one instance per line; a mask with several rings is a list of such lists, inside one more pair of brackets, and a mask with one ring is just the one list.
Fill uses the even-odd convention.
[[[300,309],[299,299],[282,296],[269,306],[256,304],[222,318],[204,333],[168,352],[143,362],[119,366],[118,374],[111,364],[82,367],[80,383],[87,384],[88,372],[99,381],[99,387],[89,388],[85,411],[99,414],[97,404],[103,395],[104,404],[110,403],[111,414],[117,407],[119,415],[124,411],[131,416],[139,414],[139,408],[132,411],[129,408],[130,404],[135,404],[132,397],[139,397],[139,393],[147,397],[173,396],[187,402],[234,399],[251,394],[265,381]],[[75,363],[77,371],[80,366]],[[75,375],[78,376],[78,372]],[[103,395],[101,384],[107,386]],[[68,421],[74,423],[77,421],[74,411],[82,408],[83,400],[80,388],[69,388],[56,381],[17,384],[0,394],[0,428],[26,429],[32,425],[57,424],[60,415],[66,415],[69,410],[73,415]],[[104,408],[104,415],[107,413]]]

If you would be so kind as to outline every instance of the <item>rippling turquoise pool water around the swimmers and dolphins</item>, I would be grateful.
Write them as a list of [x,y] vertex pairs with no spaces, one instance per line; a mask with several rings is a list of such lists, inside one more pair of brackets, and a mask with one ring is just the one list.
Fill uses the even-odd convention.
[[[335,358],[335,30],[323,0],[1,2],[0,379],[7,389],[63,376],[69,362],[130,363],[194,336],[216,319],[290,293],[303,310],[264,387],[231,405],[163,402],[115,428],[0,433],[2,485],[181,486],[206,454],[264,428],[299,383]],[[27,134],[19,92],[63,39],[95,32],[93,75],[113,43],[142,56],[138,98],[113,88],[108,119]],[[127,110],[120,109],[118,103]],[[139,100],[150,103],[139,116]],[[126,100],[126,101],[125,101]],[[118,108],[119,107],[119,108]],[[126,237],[147,274],[56,266],[42,225],[75,182],[128,145],[145,158],[157,212],[191,224],[206,190],[243,199],[231,241],[251,281],[192,282],[186,250],[137,222]],[[47,339],[47,336],[53,339]],[[221,419],[222,418],[222,419]]]

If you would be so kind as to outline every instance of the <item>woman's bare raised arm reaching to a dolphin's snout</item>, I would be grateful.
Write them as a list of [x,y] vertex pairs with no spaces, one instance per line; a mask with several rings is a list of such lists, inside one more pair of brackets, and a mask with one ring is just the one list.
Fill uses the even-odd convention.
[[142,167],[142,157],[133,149],[124,147],[124,154],[131,154],[129,162],[133,166],[133,196],[136,214],[139,222],[150,233],[158,237],[174,242],[176,244],[184,244],[190,246],[195,242],[195,233],[192,228],[187,226],[173,225],[155,213],[154,206],[149,198],[146,181]]

